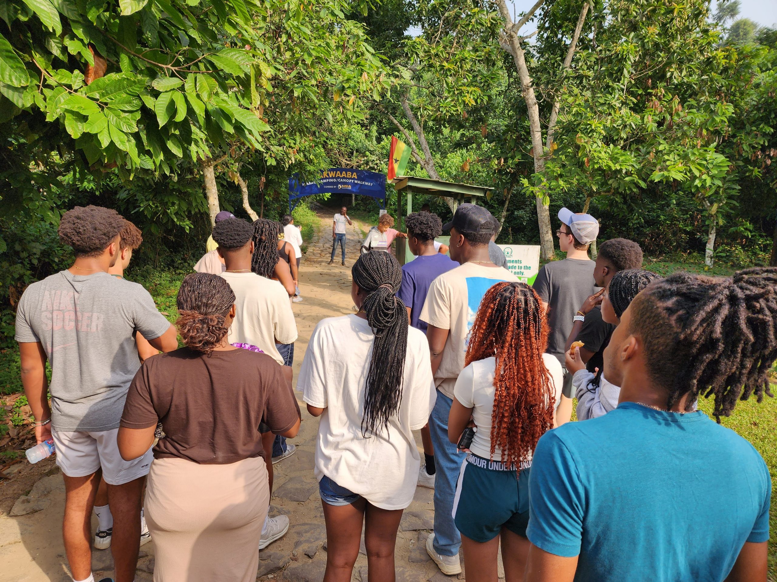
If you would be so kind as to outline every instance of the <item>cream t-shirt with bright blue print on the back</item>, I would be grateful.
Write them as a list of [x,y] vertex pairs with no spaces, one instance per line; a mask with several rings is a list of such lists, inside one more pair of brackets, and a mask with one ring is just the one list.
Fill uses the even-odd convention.
[[475,323],[480,300],[495,283],[517,280],[506,268],[468,262],[443,273],[429,286],[420,320],[449,330],[440,367],[434,374],[437,390],[448,398],[453,398],[456,378],[464,369],[469,330]]

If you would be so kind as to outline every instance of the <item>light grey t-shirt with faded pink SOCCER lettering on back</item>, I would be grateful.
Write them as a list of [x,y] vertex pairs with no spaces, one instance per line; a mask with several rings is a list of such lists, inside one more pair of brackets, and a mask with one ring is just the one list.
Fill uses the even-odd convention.
[[57,431],[109,431],[140,368],[134,333],[170,327],[148,291],[106,272],[58,272],[27,287],[16,341],[40,341],[51,363],[51,424]]

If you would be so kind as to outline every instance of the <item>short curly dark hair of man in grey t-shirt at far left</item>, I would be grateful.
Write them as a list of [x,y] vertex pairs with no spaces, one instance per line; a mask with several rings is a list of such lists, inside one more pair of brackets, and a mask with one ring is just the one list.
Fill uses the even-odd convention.
[[127,220],[103,206],[75,206],[59,221],[59,240],[73,248],[76,257],[99,257],[120,234]]

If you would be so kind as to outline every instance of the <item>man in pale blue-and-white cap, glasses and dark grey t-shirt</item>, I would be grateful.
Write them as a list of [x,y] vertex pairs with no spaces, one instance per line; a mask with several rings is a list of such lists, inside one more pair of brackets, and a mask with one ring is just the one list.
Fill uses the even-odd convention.
[[[550,336],[548,353],[566,365],[566,338],[574,323],[573,317],[588,296],[594,294],[595,263],[588,258],[588,247],[599,234],[599,223],[591,214],[575,214],[559,210],[561,227],[556,231],[559,248],[566,253],[563,261],[544,265],[537,273],[534,289],[548,311]],[[564,424],[572,417],[572,374],[564,374],[561,403],[556,411],[556,422]]]

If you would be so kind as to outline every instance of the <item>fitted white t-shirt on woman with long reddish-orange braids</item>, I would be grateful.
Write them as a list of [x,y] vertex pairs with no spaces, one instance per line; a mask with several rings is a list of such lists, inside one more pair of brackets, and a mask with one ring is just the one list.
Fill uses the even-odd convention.
[[[564,372],[559,360],[554,355],[542,354],[545,368],[548,369],[551,379],[551,390],[556,400],[554,407],[558,409],[561,401],[561,390],[564,383]],[[491,458],[491,413],[493,412],[493,378],[497,366],[496,358],[486,358],[472,362],[462,373],[458,375],[453,395],[462,406],[472,408],[472,420],[478,430],[469,450],[483,459]],[[494,449],[493,460],[502,460],[502,451],[499,447]],[[531,456],[528,459],[530,461]]]

